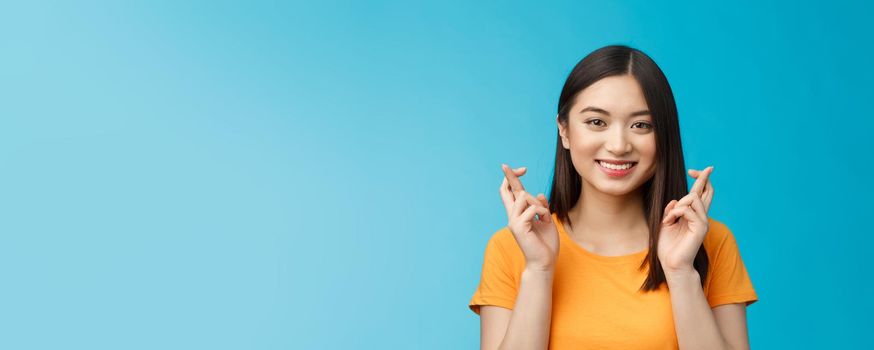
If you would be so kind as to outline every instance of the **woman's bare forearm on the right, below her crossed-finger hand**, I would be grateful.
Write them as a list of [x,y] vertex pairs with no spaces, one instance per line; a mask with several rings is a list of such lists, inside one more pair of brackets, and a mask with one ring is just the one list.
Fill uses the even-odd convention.
[[716,318],[701,287],[696,270],[666,273],[671,294],[674,328],[682,350],[726,349]]

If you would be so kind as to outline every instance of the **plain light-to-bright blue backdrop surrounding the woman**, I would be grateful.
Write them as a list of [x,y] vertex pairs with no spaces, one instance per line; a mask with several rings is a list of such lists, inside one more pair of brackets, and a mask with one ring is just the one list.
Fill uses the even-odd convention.
[[715,166],[753,347],[872,347],[869,5],[318,3],[0,5],[0,348],[476,348],[499,165],[546,190],[608,44]]

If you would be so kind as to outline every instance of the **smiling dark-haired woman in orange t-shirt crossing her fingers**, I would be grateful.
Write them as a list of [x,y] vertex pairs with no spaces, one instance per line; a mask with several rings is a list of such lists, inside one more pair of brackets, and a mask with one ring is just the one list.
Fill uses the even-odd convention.
[[671,87],[643,52],[607,46],[558,102],[549,200],[502,164],[508,225],[470,302],[483,349],[747,349],[757,301],[737,243],[688,190]]

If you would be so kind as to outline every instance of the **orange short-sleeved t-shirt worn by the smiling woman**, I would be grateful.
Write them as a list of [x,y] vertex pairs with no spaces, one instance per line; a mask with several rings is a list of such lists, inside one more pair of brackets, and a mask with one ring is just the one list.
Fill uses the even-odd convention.
[[[667,284],[638,292],[646,268],[638,270],[649,248],[623,256],[596,255],[574,242],[556,214],[560,238],[553,277],[550,349],[678,349]],[[710,307],[758,300],[734,235],[708,218],[704,248],[710,268],[704,295]],[[525,256],[508,227],[495,232],[483,259],[482,278],[469,307],[512,310],[525,269]]]

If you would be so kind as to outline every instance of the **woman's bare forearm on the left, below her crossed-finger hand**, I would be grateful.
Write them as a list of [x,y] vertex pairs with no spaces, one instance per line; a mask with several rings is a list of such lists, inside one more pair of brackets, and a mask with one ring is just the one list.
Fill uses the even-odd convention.
[[499,349],[546,349],[552,318],[552,280],[555,270],[522,272],[513,315]]

